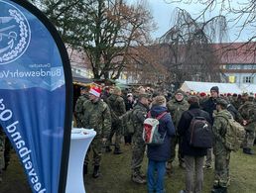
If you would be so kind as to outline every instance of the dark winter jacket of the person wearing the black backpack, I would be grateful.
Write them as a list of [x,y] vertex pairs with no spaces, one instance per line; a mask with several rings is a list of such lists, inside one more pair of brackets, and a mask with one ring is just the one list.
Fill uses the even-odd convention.
[[[190,115],[190,113],[192,115]],[[178,125],[178,134],[182,137],[182,152],[189,156],[204,156],[206,155],[207,148],[193,147],[190,145],[189,128],[192,122],[192,116],[204,117],[209,124],[211,120],[209,114],[199,109],[198,104],[192,104],[188,111],[185,111],[182,115],[180,123]]]

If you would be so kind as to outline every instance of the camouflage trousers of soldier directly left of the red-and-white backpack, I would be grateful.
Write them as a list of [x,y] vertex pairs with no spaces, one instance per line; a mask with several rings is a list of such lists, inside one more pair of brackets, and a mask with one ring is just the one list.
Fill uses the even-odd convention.
[[134,176],[141,174],[141,166],[144,158],[145,148],[146,145],[141,136],[133,137],[131,170],[132,175]]

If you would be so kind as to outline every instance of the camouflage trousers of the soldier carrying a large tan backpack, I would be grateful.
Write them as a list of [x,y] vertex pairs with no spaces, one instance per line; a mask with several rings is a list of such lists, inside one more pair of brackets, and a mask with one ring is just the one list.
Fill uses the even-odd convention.
[[216,150],[215,153],[215,177],[214,185],[227,187],[229,185],[229,161],[230,161],[230,150],[221,148]]

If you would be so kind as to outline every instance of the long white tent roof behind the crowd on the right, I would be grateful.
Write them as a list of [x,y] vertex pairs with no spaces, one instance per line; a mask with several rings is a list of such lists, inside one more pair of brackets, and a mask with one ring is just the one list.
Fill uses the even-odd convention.
[[209,93],[212,86],[217,86],[219,93],[236,93],[241,94],[241,90],[237,84],[234,83],[219,83],[219,82],[194,82],[194,81],[185,81],[181,89],[185,92],[205,92]]

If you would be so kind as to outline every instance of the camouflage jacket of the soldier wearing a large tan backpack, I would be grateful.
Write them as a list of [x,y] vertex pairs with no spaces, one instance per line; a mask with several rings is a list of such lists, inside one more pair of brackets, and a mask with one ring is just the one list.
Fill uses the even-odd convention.
[[212,133],[214,137],[214,154],[216,154],[222,148],[225,148],[225,135],[227,127],[229,127],[227,119],[232,119],[232,115],[226,109],[217,112],[214,116],[214,122],[212,126]]

